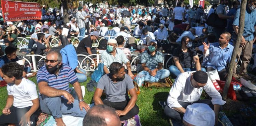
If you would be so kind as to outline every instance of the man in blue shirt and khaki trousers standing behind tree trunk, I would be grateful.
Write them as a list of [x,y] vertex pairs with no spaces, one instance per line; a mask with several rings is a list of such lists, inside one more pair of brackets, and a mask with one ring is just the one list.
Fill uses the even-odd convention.
[[[238,48],[237,60],[239,60],[241,53],[243,53],[242,64],[240,67],[239,76],[243,76],[246,79],[251,79],[249,75],[247,75],[247,66],[250,64],[250,60],[252,57],[253,43],[256,40],[256,36],[254,35],[255,31],[255,22],[256,22],[256,0],[248,0],[245,11],[245,22],[244,22],[244,31],[242,36],[242,42]],[[238,34],[239,29],[239,16],[240,9],[237,10],[236,15],[234,17],[233,29],[236,34]],[[236,67],[237,63],[234,65],[233,76],[239,77],[236,75]]]

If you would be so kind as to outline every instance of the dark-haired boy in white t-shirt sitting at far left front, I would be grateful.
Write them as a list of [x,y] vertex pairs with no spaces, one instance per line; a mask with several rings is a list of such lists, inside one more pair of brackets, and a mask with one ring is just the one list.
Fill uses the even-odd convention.
[[0,125],[37,125],[39,100],[35,83],[22,77],[23,68],[16,62],[3,65],[2,72],[8,83],[8,98],[0,116]]

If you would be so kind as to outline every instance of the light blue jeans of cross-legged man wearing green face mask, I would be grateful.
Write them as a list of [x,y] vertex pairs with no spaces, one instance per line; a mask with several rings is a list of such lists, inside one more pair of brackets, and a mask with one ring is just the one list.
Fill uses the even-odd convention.
[[156,76],[151,76],[150,73],[147,71],[143,70],[141,71],[138,75],[144,75],[145,76],[145,81],[148,82],[157,82],[159,79],[164,79],[169,77],[170,72],[167,69],[160,69],[156,72]]

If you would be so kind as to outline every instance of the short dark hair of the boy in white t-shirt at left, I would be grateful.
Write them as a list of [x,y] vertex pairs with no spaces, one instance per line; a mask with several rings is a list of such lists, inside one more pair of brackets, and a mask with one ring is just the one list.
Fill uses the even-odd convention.
[[2,66],[2,72],[8,77],[15,77],[16,79],[22,79],[23,68],[16,62],[6,63]]

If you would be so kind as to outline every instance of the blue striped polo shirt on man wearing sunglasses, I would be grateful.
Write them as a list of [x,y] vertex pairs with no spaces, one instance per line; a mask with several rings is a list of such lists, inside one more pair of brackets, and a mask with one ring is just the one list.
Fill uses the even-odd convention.
[[45,65],[41,67],[37,73],[37,83],[41,81],[47,82],[48,86],[52,88],[70,93],[69,83],[74,84],[78,81],[78,78],[68,64],[62,63],[59,75],[49,74]]

